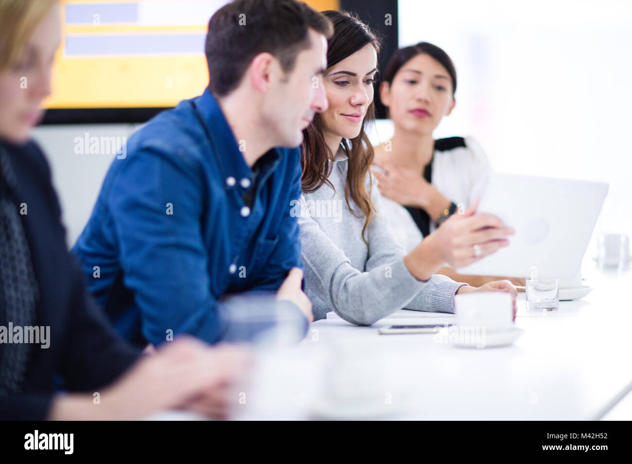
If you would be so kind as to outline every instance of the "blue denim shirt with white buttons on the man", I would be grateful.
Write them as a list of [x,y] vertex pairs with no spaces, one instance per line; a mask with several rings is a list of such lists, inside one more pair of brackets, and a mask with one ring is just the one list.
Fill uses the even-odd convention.
[[[291,268],[303,268],[291,214],[300,198],[300,149],[273,148],[255,168],[256,176],[208,89],[131,136],[72,250],[121,335],[137,345],[170,333],[227,340],[222,297],[276,291]],[[249,189],[252,207],[243,199]],[[252,301],[241,309],[256,307]],[[266,301],[272,317],[279,306],[293,312],[305,334],[298,307]],[[270,323],[259,312],[248,330]]]

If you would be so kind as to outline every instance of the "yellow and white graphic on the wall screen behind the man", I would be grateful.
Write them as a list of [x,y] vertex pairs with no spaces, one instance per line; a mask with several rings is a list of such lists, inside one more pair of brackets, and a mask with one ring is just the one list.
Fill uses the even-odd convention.
[[[204,92],[210,16],[226,0],[66,0],[47,108],[171,107]],[[305,2],[336,9],[337,0]]]

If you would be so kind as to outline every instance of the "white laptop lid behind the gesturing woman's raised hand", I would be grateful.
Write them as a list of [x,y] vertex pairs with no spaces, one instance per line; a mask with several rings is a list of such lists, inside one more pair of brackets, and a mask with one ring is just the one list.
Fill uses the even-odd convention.
[[604,204],[605,182],[532,175],[491,174],[477,213],[493,214],[516,230],[509,246],[460,274],[571,278],[581,266]]

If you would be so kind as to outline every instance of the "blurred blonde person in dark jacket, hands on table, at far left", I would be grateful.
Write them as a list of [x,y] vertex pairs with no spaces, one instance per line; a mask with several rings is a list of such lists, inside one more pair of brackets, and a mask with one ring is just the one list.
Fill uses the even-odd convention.
[[[29,139],[51,93],[60,23],[58,1],[0,0],[0,420],[142,419],[176,408],[224,417],[245,353],[185,337],[141,355],[95,309],[66,251],[49,168]],[[8,327],[37,328],[39,341],[7,343]],[[56,374],[66,394],[54,392]]]

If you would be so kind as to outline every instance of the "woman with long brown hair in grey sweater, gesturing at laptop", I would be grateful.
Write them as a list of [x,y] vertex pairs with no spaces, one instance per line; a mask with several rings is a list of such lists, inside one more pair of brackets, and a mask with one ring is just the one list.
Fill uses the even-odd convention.
[[[315,319],[329,311],[368,325],[401,308],[454,312],[454,295],[509,292],[501,280],[470,287],[443,275],[507,246],[514,233],[476,205],[451,216],[406,254],[384,218],[370,174],[373,149],[365,125],[374,121],[374,77],[379,40],[355,16],[325,11],[334,24],[324,86],[329,109],[303,132],[303,196],[291,205],[301,227],[305,293]],[[343,199],[344,198],[344,199]]]

